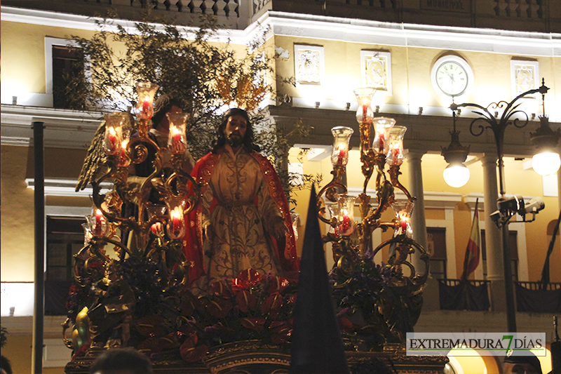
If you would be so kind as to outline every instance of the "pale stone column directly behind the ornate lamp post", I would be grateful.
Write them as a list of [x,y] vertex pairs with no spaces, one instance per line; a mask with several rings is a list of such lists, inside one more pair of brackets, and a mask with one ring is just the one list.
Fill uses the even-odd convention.
[[485,196],[485,246],[487,248],[487,280],[491,281],[491,307],[496,312],[506,310],[504,293],[503,242],[491,214],[497,210],[496,199],[499,187],[496,181],[496,155],[485,154],[482,157],[483,196]]

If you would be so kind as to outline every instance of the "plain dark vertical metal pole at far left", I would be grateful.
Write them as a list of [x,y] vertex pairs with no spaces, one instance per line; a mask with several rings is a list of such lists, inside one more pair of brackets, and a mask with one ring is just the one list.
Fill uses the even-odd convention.
[[45,309],[45,168],[43,122],[33,122],[35,206],[35,302],[33,310],[32,368],[43,373],[43,318]]

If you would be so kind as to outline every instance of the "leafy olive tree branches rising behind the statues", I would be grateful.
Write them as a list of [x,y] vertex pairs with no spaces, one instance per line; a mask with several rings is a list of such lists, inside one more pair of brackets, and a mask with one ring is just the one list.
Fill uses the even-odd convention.
[[[234,51],[229,44],[211,43],[217,25],[202,18],[202,27],[178,27],[147,20],[123,27],[111,18],[97,21],[99,31],[90,39],[72,36],[86,56],[86,74],[67,77],[72,109],[126,110],[137,100],[135,83],[151,81],[163,93],[184,102],[191,113],[187,132],[195,159],[210,149],[219,109],[224,105],[217,79],[234,87],[242,76],[271,71],[269,59],[258,58],[262,48]],[[236,92],[234,92],[235,96]]]

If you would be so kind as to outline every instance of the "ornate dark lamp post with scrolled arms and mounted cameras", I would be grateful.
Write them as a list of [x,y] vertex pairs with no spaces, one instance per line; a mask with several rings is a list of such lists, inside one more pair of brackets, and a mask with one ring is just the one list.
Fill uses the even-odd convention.
[[[511,271],[511,252],[508,248],[508,223],[516,213],[525,215],[525,213],[537,213],[541,209],[543,209],[543,201],[539,201],[535,208],[531,208],[528,204],[524,204],[522,200],[522,196],[514,196],[514,198],[507,198],[506,197],[506,187],[504,181],[504,163],[503,163],[503,155],[504,155],[504,131],[508,125],[514,125],[518,128],[523,128],[528,123],[528,115],[520,109],[517,109],[520,104],[516,104],[520,98],[523,98],[527,95],[532,95],[533,93],[541,93],[541,100],[543,102],[544,97],[547,93],[549,88],[547,88],[543,82],[541,82],[541,86],[534,90],[526,91],[525,93],[521,93],[518,95],[514,100],[511,102],[499,101],[499,102],[492,102],[487,107],[482,107],[478,104],[473,104],[470,102],[466,102],[464,104],[455,105],[452,103],[450,109],[454,112],[454,125],[455,125],[455,111],[459,107],[475,107],[478,111],[474,112],[479,114],[478,118],[473,119],[470,124],[469,131],[473,136],[479,136],[483,133],[485,128],[491,128],[493,131],[493,135],[495,138],[496,144],[496,156],[497,156],[497,165],[499,166],[499,188],[501,196],[497,200],[497,208],[499,211],[496,211],[492,214],[492,219],[494,220],[495,224],[499,229],[502,230],[502,241],[503,241],[503,267],[504,267],[504,283],[505,283],[505,293],[506,293],[506,318],[507,318],[507,326],[509,332],[516,331],[516,314],[515,314],[515,304],[514,304],[514,295],[513,295],[513,277]],[[503,114],[501,115],[500,119],[496,119],[494,113],[489,112],[489,109],[493,111],[496,109],[503,109]],[[526,116],[525,120],[519,121],[518,118],[513,118],[516,115],[523,114]],[[549,128],[548,119],[545,115],[545,105],[543,105],[543,116],[540,116],[541,120],[541,127],[536,131],[536,133],[531,134],[533,143],[535,145],[548,145],[548,148],[553,149],[555,145],[557,145],[557,141],[560,137],[560,131],[555,133]],[[479,121],[487,122],[487,126],[482,126]],[[474,131],[474,124],[478,123],[478,126],[475,127]],[[454,126],[455,131],[455,126]],[[444,152],[443,152],[444,153]],[[557,154],[557,158],[559,155]],[[539,169],[539,168],[538,168]],[[558,169],[558,166],[557,166]],[[557,171],[557,170],[555,170]],[[553,171],[553,173],[555,173]],[[532,199],[534,200],[534,199]],[[541,199],[540,199],[541,200]],[[529,222],[524,220],[524,222]]]

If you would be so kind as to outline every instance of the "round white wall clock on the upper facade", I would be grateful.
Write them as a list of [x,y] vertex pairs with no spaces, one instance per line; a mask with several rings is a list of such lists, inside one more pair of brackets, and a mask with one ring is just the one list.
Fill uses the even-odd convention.
[[473,87],[473,72],[468,62],[454,55],[439,58],[431,72],[433,87],[448,96],[465,95]]

